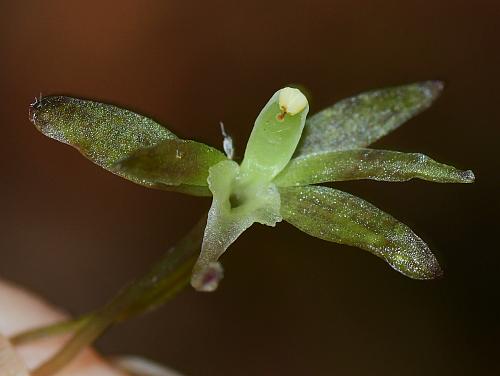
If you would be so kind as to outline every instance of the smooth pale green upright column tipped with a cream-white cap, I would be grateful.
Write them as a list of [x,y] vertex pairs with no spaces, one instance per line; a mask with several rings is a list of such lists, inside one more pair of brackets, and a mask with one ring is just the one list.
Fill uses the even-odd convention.
[[255,120],[241,163],[241,174],[270,181],[290,161],[309,111],[298,89],[278,90]]

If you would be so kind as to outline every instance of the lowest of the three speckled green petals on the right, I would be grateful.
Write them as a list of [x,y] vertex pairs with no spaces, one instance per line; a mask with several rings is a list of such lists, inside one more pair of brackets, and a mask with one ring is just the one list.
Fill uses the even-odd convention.
[[280,194],[283,219],[309,235],[367,250],[410,278],[442,274],[422,239],[358,197],[319,186],[280,188]]

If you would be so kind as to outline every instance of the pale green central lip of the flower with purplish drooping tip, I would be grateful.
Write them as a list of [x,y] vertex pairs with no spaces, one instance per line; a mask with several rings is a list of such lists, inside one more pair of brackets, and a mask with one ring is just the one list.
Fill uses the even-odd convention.
[[274,184],[257,187],[251,197],[237,202],[233,184],[240,167],[234,161],[219,162],[208,178],[213,201],[208,212],[200,257],[193,269],[191,285],[198,291],[213,291],[222,278],[219,257],[253,223],[274,226],[281,221],[280,198]]

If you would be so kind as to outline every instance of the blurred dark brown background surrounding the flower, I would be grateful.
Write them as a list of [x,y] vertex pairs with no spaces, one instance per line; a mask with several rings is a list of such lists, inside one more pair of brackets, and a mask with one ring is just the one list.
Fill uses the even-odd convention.
[[[240,153],[288,83],[312,112],[426,79],[436,105],[375,146],[471,168],[474,185],[338,185],[436,250],[419,282],[358,249],[289,225],[254,226],[223,259],[219,291],[187,291],[108,332],[187,375],[496,375],[500,350],[497,1],[23,1],[0,3],[0,275],[74,314],[141,275],[207,199],[147,190],[43,137],[39,93],[115,103],[180,136]],[[7,302],[0,302],[2,305]]]

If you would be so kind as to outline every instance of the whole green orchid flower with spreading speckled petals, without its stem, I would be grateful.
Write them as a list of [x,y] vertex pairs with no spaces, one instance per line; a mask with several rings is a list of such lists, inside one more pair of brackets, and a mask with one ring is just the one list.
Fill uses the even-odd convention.
[[[431,279],[442,274],[439,264],[406,225],[356,196],[317,184],[473,182],[472,171],[422,154],[366,149],[428,108],[442,87],[427,81],[376,90],[308,119],[307,99],[298,89],[278,90],[257,117],[239,164],[112,105],[45,97],[31,106],[30,118],[45,135],[135,183],[213,197],[191,279],[197,290],[217,287],[218,259],[243,231],[256,222],[275,226],[282,220],[317,238],[365,249],[408,277]],[[224,144],[231,149],[228,139]]]

